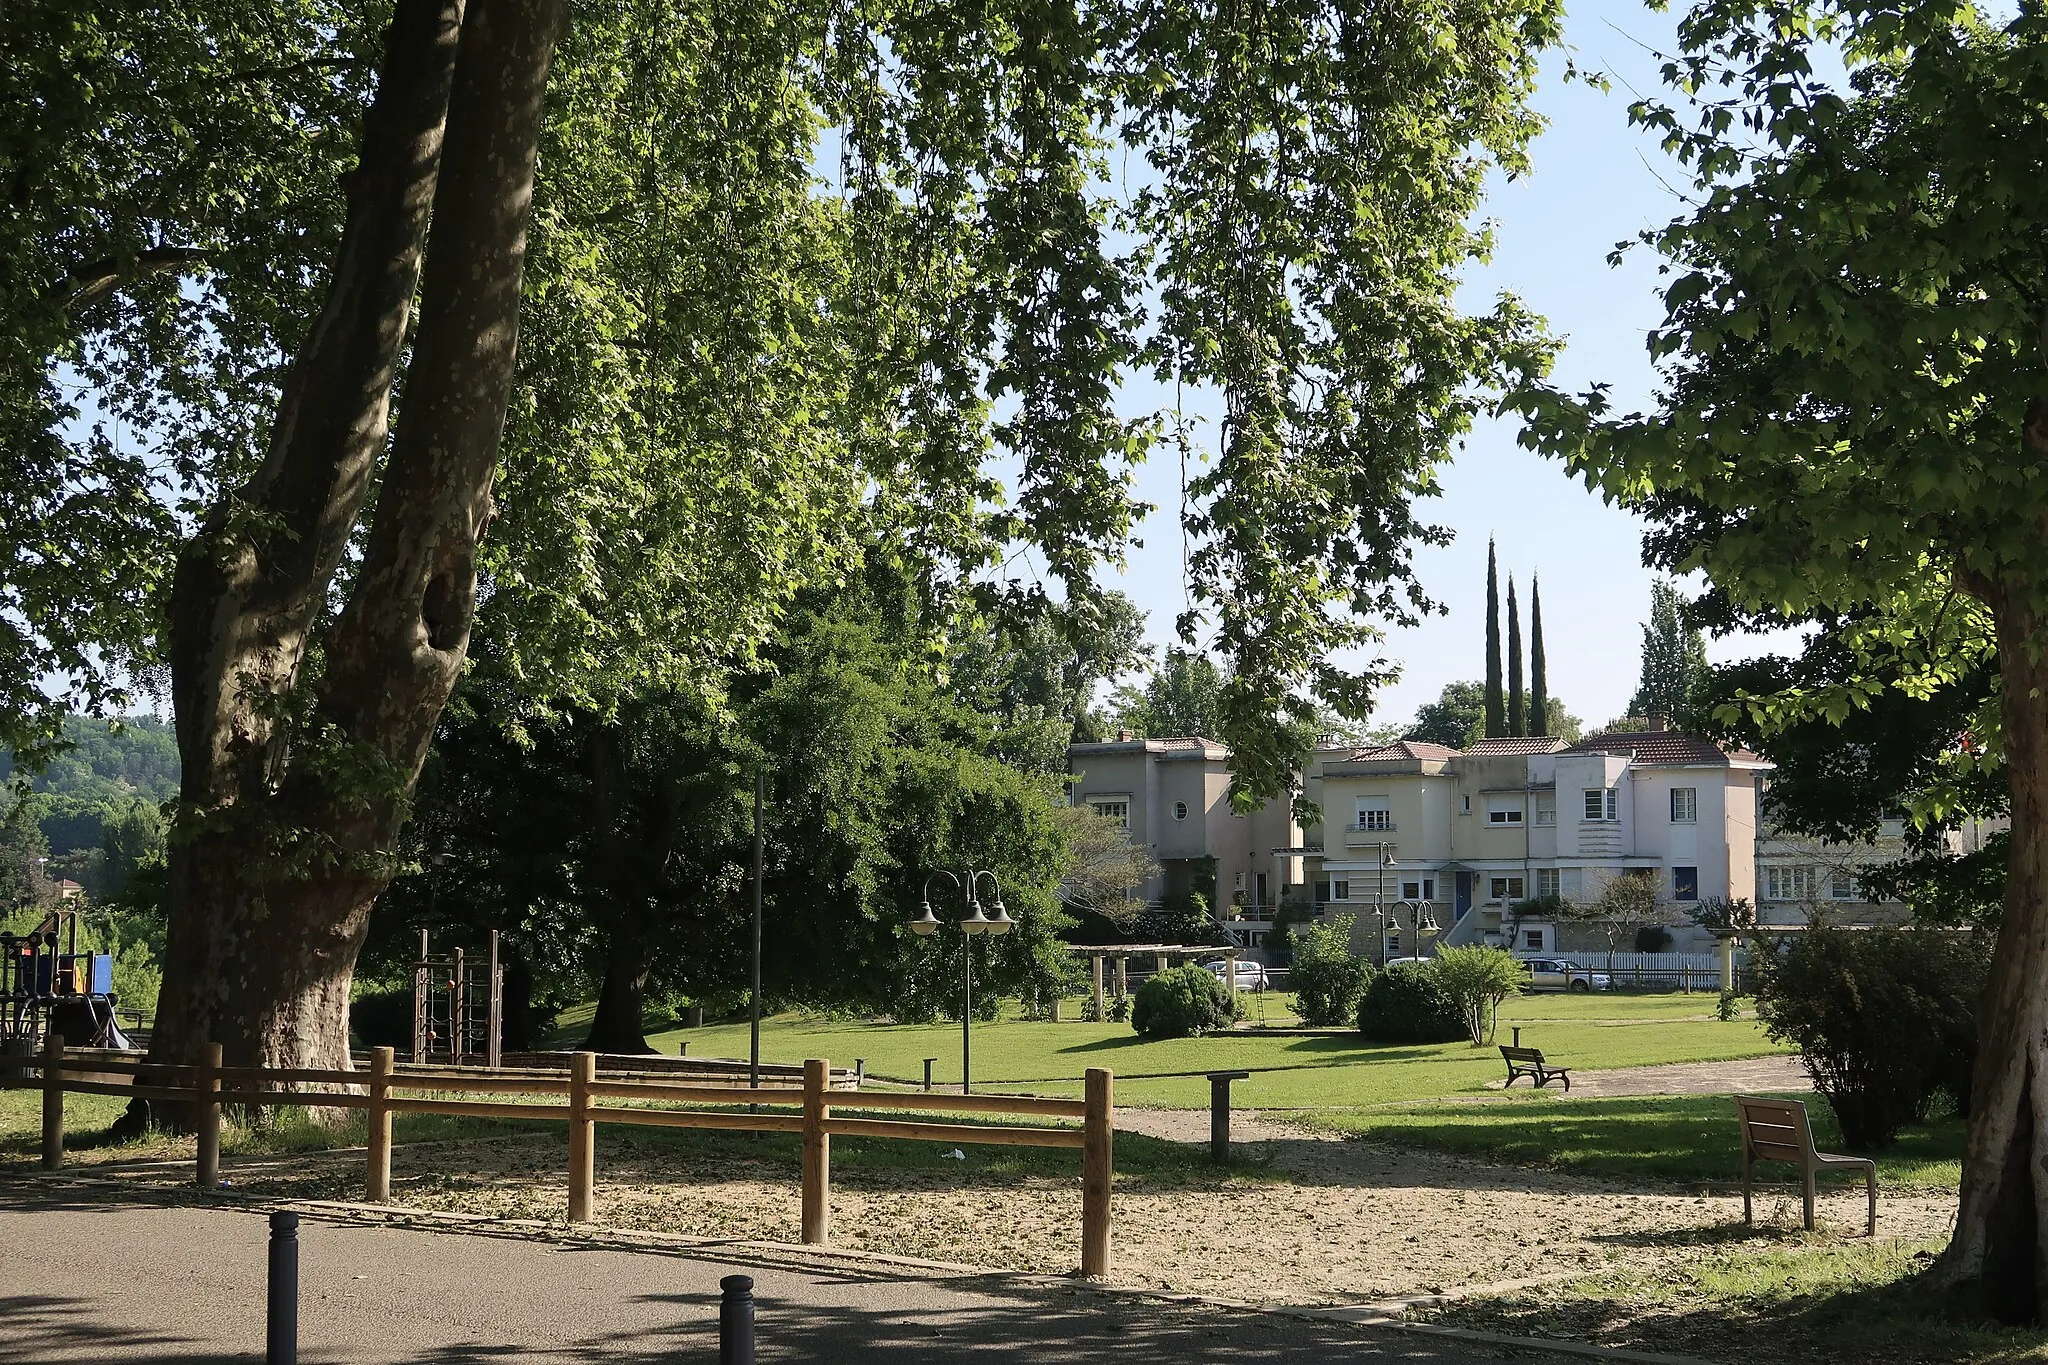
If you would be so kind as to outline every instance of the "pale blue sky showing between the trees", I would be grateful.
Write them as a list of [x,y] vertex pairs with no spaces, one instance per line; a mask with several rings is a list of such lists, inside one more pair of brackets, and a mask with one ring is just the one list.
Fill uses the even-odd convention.
[[[1683,174],[1653,137],[1628,125],[1632,90],[1659,90],[1655,53],[1675,47],[1673,29],[1671,12],[1628,0],[1571,8],[1565,33],[1573,57],[1579,68],[1608,72],[1612,88],[1567,82],[1559,53],[1544,61],[1536,106],[1550,127],[1534,143],[1528,178],[1497,178],[1485,209],[1497,223],[1495,258],[1466,284],[1473,307],[1501,289],[1518,293],[1567,340],[1554,379],[1571,389],[1604,381],[1624,409],[1651,395],[1642,342],[1661,317],[1657,258],[1638,248],[1612,268],[1608,252],[1686,207],[1677,196]],[[1386,655],[1403,665],[1403,677],[1382,694],[1374,720],[1403,720],[1446,681],[1481,677],[1487,536],[1499,544],[1501,573],[1516,577],[1524,612],[1530,573],[1542,577],[1552,696],[1589,726],[1628,706],[1651,593],[1640,522],[1604,505],[1563,467],[1518,448],[1513,436],[1503,422],[1475,428],[1444,471],[1444,497],[1425,508],[1427,520],[1458,532],[1450,546],[1417,555],[1423,587],[1448,616],[1389,634]],[[1141,469],[1139,495],[1159,512],[1116,585],[1151,614],[1151,639],[1169,643],[1182,608],[1178,469],[1169,460]],[[1720,661],[1769,647],[1786,641],[1710,641],[1708,655]]]

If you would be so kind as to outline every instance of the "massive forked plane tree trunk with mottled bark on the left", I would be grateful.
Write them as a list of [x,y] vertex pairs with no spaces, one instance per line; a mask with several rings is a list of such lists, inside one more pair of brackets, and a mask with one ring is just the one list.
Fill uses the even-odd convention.
[[[348,1064],[369,909],[469,647],[561,20],[563,0],[397,0],[326,307],[264,465],[174,577],[184,774],[154,1060],[219,1042],[229,1064]],[[373,485],[373,530],[330,618]]]

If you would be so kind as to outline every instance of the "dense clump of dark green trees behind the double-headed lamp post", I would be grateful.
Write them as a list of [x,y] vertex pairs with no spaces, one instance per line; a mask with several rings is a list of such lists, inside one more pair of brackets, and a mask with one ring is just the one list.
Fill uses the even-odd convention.
[[[422,786],[418,872],[377,911],[381,972],[401,974],[422,923],[502,929],[541,1005],[600,995],[604,1050],[641,1046],[647,999],[733,999],[750,972],[762,767],[764,980],[778,1001],[956,1011],[963,935],[907,925],[926,878],[967,866],[997,874],[1018,921],[975,945],[977,995],[993,1009],[1059,988],[1073,968],[1057,890],[1077,872],[1059,784],[989,757],[1001,720],[958,706],[874,598],[807,596],[727,710],[649,692],[516,735],[487,710],[451,726]],[[932,896],[942,917],[965,915],[948,882]]]

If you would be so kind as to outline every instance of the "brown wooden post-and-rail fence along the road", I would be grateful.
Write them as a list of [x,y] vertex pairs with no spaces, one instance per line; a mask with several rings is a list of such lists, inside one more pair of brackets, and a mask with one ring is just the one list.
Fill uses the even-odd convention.
[[[43,1091],[43,1169],[63,1166],[63,1097],[117,1095],[193,1105],[199,1138],[197,1183],[221,1179],[221,1109],[225,1105],[303,1105],[362,1109],[369,1115],[371,1203],[391,1199],[391,1115],[446,1113],[473,1119],[557,1119],[569,1126],[569,1222],[596,1218],[596,1126],[719,1128],[788,1132],[803,1140],[803,1240],[831,1240],[831,1138],[899,1138],[985,1146],[1079,1148],[1081,1152],[1081,1273],[1110,1273],[1110,1183],[1114,1078],[1090,1068],[1081,1099],[1036,1095],[936,1095],[922,1091],[831,1091],[825,1060],[803,1064],[803,1085],[705,1085],[662,1076],[600,1078],[594,1052],[569,1056],[567,1074],[487,1068],[399,1070],[391,1048],[371,1054],[369,1070],[223,1066],[219,1044],[199,1064],[139,1062],[102,1054],[66,1058],[61,1038],[29,1058],[0,1058],[0,1087]],[[29,1072],[39,1072],[29,1081]],[[287,1091],[287,1085],[330,1087]],[[541,1101],[446,1099],[446,1095],[528,1095]],[[545,1103],[559,1097],[561,1103]],[[643,1105],[643,1107],[629,1107]],[[686,1107],[645,1107],[686,1105]],[[778,1111],[780,1109],[780,1111]],[[948,1124],[932,1117],[862,1117],[856,1111],[989,1113],[1036,1119],[1081,1119],[1073,1126]]]

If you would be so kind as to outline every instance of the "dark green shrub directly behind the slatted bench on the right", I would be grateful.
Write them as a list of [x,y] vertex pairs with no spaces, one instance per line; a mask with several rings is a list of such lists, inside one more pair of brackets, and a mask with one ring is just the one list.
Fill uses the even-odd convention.
[[1968,1111],[1989,960],[1974,933],[1815,927],[1757,948],[1757,1017],[1800,1050],[1847,1144],[1884,1148],[1944,1091]]

